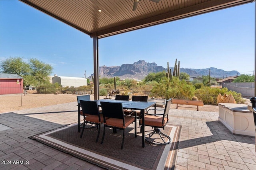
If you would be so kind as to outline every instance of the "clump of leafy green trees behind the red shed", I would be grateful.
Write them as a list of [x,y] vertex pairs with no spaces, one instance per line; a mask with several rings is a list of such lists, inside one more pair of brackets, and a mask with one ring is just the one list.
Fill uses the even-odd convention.
[[2,73],[18,74],[24,79],[24,86],[39,86],[49,82],[48,76],[52,73],[52,66],[38,59],[30,59],[28,63],[22,57],[10,57],[1,64]]

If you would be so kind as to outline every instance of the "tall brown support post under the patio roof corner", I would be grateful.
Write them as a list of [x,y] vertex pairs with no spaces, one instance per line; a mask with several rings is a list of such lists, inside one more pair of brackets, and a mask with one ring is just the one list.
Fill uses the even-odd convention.
[[93,66],[94,66],[94,100],[100,99],[100,81],[99,81],[99,38],[93,37]]

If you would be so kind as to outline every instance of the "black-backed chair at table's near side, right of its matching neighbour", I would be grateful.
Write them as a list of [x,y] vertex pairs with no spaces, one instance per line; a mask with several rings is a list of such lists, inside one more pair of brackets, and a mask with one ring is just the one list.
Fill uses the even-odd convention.
[[[130,116],[135,111],[131,111],[129,115],[124,115],[122,103],[100,102],[100,105],[102,108],[102,114],[104,118],[104,131],[103,131],[101,144],[103,144],[103,141],[104,141],[106,127],[112,127],[113,129],[123,130],[123,138],[122,138],[122,145],[121,145],[121,149],[123,149],[125,129],[132,122],[134,121],[136,122],[136,116]],[[134,123],[134,130],[135,130],[134,135],[135,137],[137,137],[136,123]]]

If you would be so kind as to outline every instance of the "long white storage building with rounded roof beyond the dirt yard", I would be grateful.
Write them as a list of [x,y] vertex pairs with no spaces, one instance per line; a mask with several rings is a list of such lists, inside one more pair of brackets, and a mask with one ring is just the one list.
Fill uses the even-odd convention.
[[56,74],[52,78],[52,84],[59,83],[62,87],[66,86],[87,86],[87,78],[80,77],[65,77],[65,76],[57,76]]

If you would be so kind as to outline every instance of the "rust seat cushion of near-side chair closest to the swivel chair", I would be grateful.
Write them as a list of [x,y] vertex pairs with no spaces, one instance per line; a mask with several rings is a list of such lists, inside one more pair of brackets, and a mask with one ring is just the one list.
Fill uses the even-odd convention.
[[117,118],[109,118],[106,120],[106,125],[114,126],[114,127],[120,127],[120,128],[126,128],[128,125],[130,125],[135,120],[135,117],[127,116],[124,117],[124,123],[122,119]]

